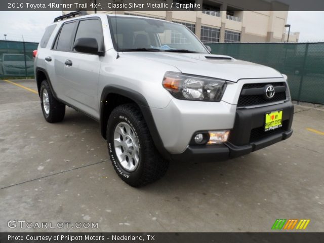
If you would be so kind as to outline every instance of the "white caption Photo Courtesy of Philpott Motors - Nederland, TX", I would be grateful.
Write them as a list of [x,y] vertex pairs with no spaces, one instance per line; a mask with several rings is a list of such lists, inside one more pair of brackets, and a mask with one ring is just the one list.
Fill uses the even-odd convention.
[[[111,235],[111,240],[154,240],[155,235]],[[110,239],[110,237],[106,237]],[[46,240],[46,241],[56,241],[56,240],[105,240],[103,235],[8,235],[8,240]]]

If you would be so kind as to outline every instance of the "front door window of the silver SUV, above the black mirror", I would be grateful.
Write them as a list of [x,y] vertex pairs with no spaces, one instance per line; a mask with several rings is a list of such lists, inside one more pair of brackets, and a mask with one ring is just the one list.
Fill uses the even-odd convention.
[[103,34],[101,22],[98,19],[88,19],[79,22],[76,31],[75,41],[78,38],[96,38],[98,42],[99,51],[103,50]]

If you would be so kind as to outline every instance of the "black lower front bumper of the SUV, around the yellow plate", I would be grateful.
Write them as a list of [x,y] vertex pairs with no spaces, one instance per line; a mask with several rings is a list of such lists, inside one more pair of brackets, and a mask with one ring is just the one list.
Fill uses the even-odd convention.
[[[269,133],[264,132],[267,112],[282,110],[282,127]],[[253,109],[237,109],[234,127],[228,142],[219,145],[191,145],[183,153],[173,153],[175,160],[224,160],[270,146],[289,138],[294,115],[292,102]]]

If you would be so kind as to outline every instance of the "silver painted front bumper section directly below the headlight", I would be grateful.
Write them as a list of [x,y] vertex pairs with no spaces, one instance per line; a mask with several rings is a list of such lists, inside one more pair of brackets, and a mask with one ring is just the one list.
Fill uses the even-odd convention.
[[150,110],[163,146],[169,153],[182,153],[197,131],[232,129],[236,105],[172,99],[166,108]]

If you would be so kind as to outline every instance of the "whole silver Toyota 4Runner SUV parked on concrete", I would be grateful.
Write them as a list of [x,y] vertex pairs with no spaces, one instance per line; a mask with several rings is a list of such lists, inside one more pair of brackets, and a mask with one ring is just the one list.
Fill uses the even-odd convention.
[[170,160],[237,157],[293,132],[286,75],[212,55],[181,24],[60,16],[34,71],[45,119],[61,121],[67,105],[98,120],[115,171],[135,187],[163,176]]

